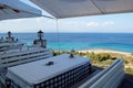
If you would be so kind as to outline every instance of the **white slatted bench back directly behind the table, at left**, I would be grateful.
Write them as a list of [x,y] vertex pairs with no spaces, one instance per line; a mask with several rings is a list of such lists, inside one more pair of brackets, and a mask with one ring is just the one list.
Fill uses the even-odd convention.
[[43,50],[29,50],[20,51],[17,53],[3,54],[0,57],[0,68],[16,66],[29,62],[44,59],[52,56],[52,51],[48,48]]

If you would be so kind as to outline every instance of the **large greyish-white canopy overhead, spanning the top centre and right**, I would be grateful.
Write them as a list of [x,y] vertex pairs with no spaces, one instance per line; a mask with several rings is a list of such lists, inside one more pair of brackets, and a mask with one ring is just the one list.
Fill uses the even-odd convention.
[[57,19],[133,12],[133,0],[32,0]]

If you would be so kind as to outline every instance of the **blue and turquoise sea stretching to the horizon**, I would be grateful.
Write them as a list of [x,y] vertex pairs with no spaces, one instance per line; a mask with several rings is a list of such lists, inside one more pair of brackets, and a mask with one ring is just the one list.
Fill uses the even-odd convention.
[[[32,45],[37,33],[13,33],[21,42]],[[7,36],[0,33],[0,36]],[[133,53],[133,33],[44,33],[48,47],[53,50],[106,48]]]

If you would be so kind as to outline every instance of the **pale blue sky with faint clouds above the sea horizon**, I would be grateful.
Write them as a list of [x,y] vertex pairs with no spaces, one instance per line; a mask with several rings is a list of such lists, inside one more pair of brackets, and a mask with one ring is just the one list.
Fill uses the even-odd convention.
[[[43,11],[44,12],[44,11]],[[49,13],[44,12],[47,15]],[[89,33],[133,33],[133,13],[91,15],[61,19],[30,18],[0,21],[0,33],[11,32],[89,32]]]

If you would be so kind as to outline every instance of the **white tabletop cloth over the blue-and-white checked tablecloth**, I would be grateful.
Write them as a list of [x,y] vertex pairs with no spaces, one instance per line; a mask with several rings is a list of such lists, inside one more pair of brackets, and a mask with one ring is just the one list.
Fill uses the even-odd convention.
[[16,75],[29,85],[39,84],[59,74],[62,74],[63,72],[66,72],[86,62],[90,62],[90,58],[81,56],[70,58],[69,56],[69,54],[63,54],[47,59],[9,67],[8,77],[11,79],[16,79],[12,78],[12,75]]

